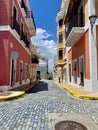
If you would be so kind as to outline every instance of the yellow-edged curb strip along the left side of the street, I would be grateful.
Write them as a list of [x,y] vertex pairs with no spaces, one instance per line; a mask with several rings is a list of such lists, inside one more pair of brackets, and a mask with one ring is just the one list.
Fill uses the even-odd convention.
[[20,91],[20,92],[16,92],[15,95],[10,95],[10,96],[5,96],[5,97],[1,97],[0,98],[0,102],[2,101],[8,101],[8,100],[13,100],[15,98],[21,97],[22,95],[24,95],[27,91],[29,91],[31,88],[33,88],[34,86],[36,86],[39,82],[36,81],[34,82],[31,86],[29,86],[28,88],[26,88],[24,91]]

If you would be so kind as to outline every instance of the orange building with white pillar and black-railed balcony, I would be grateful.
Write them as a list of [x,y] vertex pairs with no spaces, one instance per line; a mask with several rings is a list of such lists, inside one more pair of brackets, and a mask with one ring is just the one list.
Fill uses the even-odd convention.
[[[63,0],[64,1],[64,0]],[[98,0],[65,0],[68,83],[98,92]]]

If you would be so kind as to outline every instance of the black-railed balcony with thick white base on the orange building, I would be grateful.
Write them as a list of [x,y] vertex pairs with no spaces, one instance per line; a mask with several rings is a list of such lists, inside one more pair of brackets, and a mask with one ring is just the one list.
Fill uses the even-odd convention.
[[84,15],[73,15],[66,31],[66,46],[72,47],[84,34]]

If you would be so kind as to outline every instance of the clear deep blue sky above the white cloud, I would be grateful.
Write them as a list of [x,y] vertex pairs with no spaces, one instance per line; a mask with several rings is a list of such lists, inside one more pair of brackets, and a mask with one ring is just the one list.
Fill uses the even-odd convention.
[[33,11],[37,28],[43,28],[56,42],[56,15],[60,9],[61,0],[29,0],[30,8]]

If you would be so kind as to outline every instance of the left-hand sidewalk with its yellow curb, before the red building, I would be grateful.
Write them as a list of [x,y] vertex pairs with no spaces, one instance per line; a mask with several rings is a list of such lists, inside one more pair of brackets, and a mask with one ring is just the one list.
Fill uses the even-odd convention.
[[11,90],[6,91],[6,92],[0,92],[0,102],[18,98],[22,96],[23,94],[25,94],[26,91],[28,91],[29,89],[31,89],[37,84],[38,84],[38,81],[34,82],[32,85],[26,84],[17,88],[12,88]]

